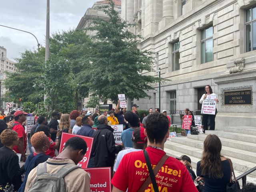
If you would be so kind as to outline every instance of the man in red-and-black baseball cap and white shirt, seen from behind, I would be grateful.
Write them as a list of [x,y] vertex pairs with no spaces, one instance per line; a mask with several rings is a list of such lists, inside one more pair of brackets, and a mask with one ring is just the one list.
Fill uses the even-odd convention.
[[[146,148],[148,138],[144,134],[144,128],[137,128],[132,132],[132,142],[133,142],[132,148],[122,150],[118,153],[117,158],[116,158],[116,163],[114,166],[114,173],[116,172],[118,165],[120,164],[120,162],[125,154],[134,152],[134,151],[140,151],[140,150],[143,150],[144,148]],[[113,173],[113,175],[114,175],[114,173]]]

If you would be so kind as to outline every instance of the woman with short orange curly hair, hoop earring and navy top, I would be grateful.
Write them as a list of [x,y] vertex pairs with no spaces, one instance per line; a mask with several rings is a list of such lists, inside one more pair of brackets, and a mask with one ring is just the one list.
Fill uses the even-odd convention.
[[25,162],[26,175],[24,181],[18,190],[18,192],[24,192],[28,174],[32,169],[34,169],[38,164],[46,162],[50,156],[46,155],[46,152],[50,149],[50,141],[44,132],[36,132],[30,139],[32,146],[35,148],[35,152],[30,154]]

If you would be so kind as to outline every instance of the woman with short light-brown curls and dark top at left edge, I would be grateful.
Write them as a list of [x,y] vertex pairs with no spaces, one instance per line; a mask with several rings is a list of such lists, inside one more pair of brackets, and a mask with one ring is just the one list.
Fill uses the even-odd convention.
[[18,134],[10,129],[3,130],[0,140],[4,145],[0,148],[0,192],[13,192],[20,188],[23,174],[19,166],[19,158],[12,148],[18,144]]

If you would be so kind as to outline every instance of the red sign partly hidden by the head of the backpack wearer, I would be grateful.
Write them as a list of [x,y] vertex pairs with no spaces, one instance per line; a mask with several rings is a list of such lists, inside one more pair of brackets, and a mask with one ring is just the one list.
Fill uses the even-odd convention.
[[91,155],[91,151],[92,151],[93,138],[92,137],[81,136],[81,135],[69,134],[69,133],[62,133],[61,141],[60,141],[60,153],[64,150],[64,147],[65,147],[65,144],[66,144],[67,140],[72,138],[72,137],[80,137],[87,144],[86,154],[84,155],[83,159],[77,164],[77,166],[80,166],[83,169],[85,169],[85,168],[87,168],[88,162],[89,162],[89,159],[90,159],[90,155]]

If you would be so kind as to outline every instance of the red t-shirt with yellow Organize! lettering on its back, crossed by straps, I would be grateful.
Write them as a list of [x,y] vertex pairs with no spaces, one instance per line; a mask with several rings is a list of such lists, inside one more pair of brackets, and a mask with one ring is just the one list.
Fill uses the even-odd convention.
[[[165,152],[147,147],[152,168],[158,164]],[[119,190],[138,191],[149,176],[146,160],[142,151],[126,154],[114,174],[111,183]],[[187,168],[176,158],[169,157],[156,174],[159,192],[198,192]],[[153,192],[152,183],[145,192]]]

